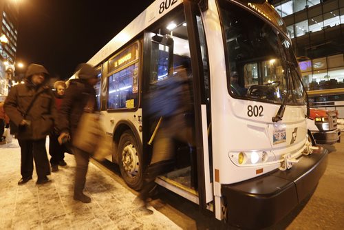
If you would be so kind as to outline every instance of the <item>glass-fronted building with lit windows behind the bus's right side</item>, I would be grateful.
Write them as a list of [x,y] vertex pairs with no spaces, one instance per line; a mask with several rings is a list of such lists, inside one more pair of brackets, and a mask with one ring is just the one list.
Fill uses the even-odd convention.
[[314,107],[344,117],[344,0],[272,1],[286,22]]

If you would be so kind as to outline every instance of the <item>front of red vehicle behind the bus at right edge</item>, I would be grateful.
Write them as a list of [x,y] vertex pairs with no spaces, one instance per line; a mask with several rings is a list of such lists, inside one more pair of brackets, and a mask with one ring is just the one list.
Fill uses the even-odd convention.
[[338,112],[310,108],[307,119],[308,135],[312,144],[332,145],[341,142],[341,131],[337,128]]

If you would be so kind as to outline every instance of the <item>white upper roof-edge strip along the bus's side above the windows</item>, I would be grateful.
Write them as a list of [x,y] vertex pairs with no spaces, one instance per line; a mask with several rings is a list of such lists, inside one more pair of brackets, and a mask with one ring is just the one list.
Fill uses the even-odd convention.
[[[162,8],[160,5],[164,2],[170,1],[169,8]],[[167,12],[173,10],[176,6],[179,6],[183,0],[156,0],[146,8],[141,14],[136,17],[129,25],[127,25],[122,31],[120,31],[113,39],[111,39],[103,48],[101,48],[87,63],[92,66],[96,66],[108,56],[113,54],[116,50],[125,45],[128,41],[133,39],[149,25],[160,19]]]

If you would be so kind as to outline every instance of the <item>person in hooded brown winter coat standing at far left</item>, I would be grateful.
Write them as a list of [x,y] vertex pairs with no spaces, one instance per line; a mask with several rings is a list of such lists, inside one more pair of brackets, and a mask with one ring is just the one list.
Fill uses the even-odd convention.
[[[34,163],[38,176],[37,184],[51,182],[50,165],[45,149],[45,138],[52,132],[56,119],[54,96],[46,85],[48,72],[43,65],[31,64],[25,74],[25,83],[10,90],[4,105],[10,120],[18,126],[15,137],[21,147],[21,180],[23,185],[32,179]],[[35,99],[34,99],[35,98]],[[35,100],[28,114],[28,107]]]

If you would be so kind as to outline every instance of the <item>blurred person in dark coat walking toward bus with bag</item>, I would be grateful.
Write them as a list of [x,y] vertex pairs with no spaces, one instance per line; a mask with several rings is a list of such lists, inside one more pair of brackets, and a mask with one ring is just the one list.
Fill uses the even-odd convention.
[[[83,115],[87,102],[92,101],[93,105],[88,112],[96,109],[96,90],[94,85],[98,83],[97,72],[91,65],[78,65],[76,76],[78,79],[71,80],[65,92],[61,109],[59,111],[58,129],[61,135],[58,137],[59,143],[64,143],[65,138],[70,136],[72,143],[76,128]],[[83,193],[86,182],[90,154],[86,151],[72,146],[72,153],[76,160],[76,174],[74,184],[74,200],[89,203],[91,198]]]

